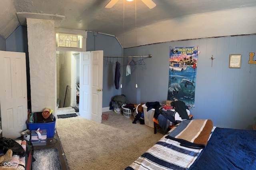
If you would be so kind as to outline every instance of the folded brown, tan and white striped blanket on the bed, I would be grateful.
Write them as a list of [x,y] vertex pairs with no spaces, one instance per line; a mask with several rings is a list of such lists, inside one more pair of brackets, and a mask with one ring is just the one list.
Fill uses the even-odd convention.
[[166,138],[180,142],[180,146],[203,149],[212,127],[212,121],[208,119],[184,120]]

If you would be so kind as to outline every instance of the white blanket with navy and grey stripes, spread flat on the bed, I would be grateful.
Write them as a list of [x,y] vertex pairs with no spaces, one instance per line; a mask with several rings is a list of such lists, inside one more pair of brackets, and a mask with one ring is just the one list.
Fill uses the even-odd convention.
[[[176,128],[172,128],[170,132]],[[214,129],[215,127],[212,128],[212,132]],[[170,140],[165,136],[125,170],[185,170],[194,163],[203,150],[180,146],[180,142]]]

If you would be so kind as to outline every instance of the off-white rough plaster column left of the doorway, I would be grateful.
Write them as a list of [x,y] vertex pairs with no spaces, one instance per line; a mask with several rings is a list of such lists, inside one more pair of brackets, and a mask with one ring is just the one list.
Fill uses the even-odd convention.
[[56,46],[54,20],[27,18],[31,110],[56,115]]

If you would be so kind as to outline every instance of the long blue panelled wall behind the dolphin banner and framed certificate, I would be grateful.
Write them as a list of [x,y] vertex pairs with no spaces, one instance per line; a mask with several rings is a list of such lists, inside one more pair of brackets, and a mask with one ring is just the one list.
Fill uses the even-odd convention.
[[[152,54],[152,58],[144,59],[146,65],[131,66],[132,74],[123,79],[123,94],[134,104],[165,103],[169,47],[196,45],[200,54],[195,108],[190,110],[194,119],[211,119],[217,127],[252,129],[256,124],[256,64],[250,65],[248,61],[249,53],[256,53],[256,35],[166,42],[124,49],[124,56]],[[242,54],[241,68],[229,68],[230,54]],[[215,59],[211,67],[212,55]],[[138,88],[135,87],[136,82]]]

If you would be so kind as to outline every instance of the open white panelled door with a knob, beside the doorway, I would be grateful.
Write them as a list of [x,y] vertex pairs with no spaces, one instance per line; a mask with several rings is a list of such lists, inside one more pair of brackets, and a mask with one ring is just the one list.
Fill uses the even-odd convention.
[[79,114],[102,121],[103,51],[80,52]]

